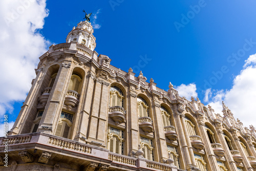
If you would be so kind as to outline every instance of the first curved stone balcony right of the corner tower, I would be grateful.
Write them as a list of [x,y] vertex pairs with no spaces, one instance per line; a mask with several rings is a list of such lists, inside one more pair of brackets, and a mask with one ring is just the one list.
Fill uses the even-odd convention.
[[112,106],[109,108],[109,116],[114,120],[116,125],[126,122],[125,111],[121,106]]

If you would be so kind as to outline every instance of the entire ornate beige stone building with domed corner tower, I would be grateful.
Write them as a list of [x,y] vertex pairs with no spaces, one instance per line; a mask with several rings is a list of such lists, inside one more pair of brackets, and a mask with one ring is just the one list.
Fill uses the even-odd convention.
[[[256,130],[94,51],[89,22],[40,56],[1,170],[256,170]],[[5,146],[8,145],[8,167]]]

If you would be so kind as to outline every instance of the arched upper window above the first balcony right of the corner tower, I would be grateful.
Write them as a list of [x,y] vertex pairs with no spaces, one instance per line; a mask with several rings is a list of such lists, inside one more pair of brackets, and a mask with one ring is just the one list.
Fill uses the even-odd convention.
[[116,86],[110,87],[110,106],[122,106],[123,107],[123,92]]

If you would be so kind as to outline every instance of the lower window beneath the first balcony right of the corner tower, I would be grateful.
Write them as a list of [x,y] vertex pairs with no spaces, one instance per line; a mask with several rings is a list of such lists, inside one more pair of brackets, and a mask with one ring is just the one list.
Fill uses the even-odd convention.
[[124,134],[122,130],[109,126],[108,149],[110,152],[123,155]]

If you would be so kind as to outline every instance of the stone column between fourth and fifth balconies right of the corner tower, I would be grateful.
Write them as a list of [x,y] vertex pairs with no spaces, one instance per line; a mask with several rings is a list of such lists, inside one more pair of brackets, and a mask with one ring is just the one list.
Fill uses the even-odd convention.
[[[199,117],[201,117],[201,116],[199,116]],[[205,155],[207,156],[205,158],[205,160],[207,161],[208,166],[210,167],[211,170],[220,170],[217,160],[216,160],[216,157],[215,157],[215,154],[214,154],[214,151],[211,148],[211,143],[210,143],[209,139],[207,138],[208,135],[207,135],[207,132],[206,132],[206,129],[204,126],[205,126],[204,121],[200,120],[198,127],[199,127],[199,131],[201,132],[202,141],[204,142]]]

